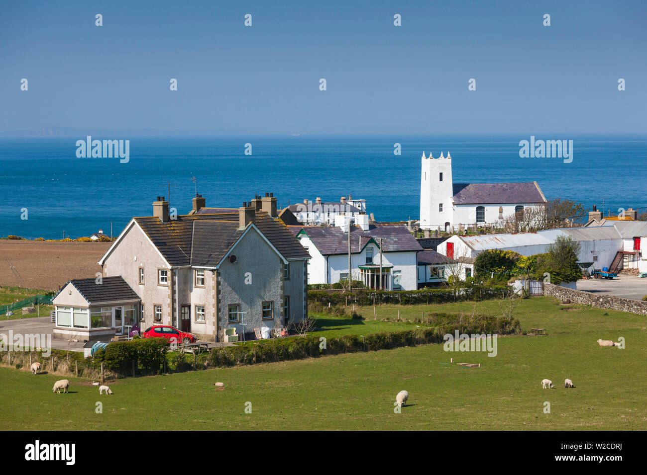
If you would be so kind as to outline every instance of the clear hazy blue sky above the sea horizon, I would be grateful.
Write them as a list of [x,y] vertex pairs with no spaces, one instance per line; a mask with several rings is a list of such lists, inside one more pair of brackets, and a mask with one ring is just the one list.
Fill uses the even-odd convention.
[[647,130],[644,1],[133,4],[3,3],[0,131]]

